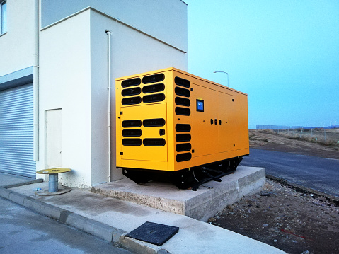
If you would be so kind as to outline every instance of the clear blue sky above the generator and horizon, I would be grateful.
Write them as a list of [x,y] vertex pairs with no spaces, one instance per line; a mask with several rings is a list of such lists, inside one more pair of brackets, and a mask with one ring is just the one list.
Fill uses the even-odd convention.
[[248,125],[339,124],[338,0],[184,0],[188,72],[248,94]]

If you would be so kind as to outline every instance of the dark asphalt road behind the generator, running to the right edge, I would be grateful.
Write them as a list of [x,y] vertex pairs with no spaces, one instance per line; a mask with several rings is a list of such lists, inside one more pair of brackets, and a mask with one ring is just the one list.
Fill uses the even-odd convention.
[[266,174],[339,197],[339,160],[250,149],[241,166],[263,167]]

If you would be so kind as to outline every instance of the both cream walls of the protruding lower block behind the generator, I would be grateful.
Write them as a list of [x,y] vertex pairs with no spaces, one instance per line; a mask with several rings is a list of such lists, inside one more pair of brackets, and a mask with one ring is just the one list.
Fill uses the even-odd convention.
[[[108,35],[111,32],[111,169],[108,172]],[[60,183],[90,187],[122,178],[115,166],[115,79],[176,67],[187,54],[94,8],[40,32],[40,161],[48,166],[46,112],[61,109]],[[52,150],[51,150],[52,151]],[[108,175],[111,177],[108,178]]]

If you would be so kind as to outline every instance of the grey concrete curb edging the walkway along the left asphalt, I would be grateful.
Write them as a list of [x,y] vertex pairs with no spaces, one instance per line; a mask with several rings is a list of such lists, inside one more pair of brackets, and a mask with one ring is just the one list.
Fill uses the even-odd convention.
[[0,197],[4,197],[6,200],[11,200],[34,212],[56,219],[62,224],[67,224],[105,241],[120,243],[125,248],[134,252],[142,254],[169,254],[167,250],[162,249],[160,246],[125,237],[127,232],[122,229],[116,229],[113,226],[103,224],[93,219],[88,219],[74,212],[55,207],[52,204],[46,204],[40,200],[35,200],[33,197],[27,197],[17,192],[13,192],[12,190],[8,190],[5,187],[0,187]]

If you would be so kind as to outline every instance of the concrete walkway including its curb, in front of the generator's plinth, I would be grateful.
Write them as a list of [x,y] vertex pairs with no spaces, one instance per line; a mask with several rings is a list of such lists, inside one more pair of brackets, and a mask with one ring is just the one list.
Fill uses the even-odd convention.
[[[7,185],[2,176],[0,173],[0,186]],[[137,253],[284,253],[203,221],[93,194],[86,189],[41,197],[35,195],[37,188],[47,190],[48,183],[0,187],[0,196],[107,241],[119,242]],[[179,232],[162,246],[125,237],[146,221],[178,226]]]

